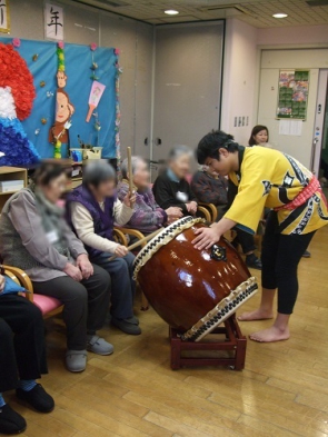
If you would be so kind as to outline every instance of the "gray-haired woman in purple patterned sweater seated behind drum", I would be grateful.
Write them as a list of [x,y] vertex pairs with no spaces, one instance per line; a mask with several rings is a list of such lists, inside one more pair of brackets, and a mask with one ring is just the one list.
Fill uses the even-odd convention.
[[[153,232],[156,229],[169,225],[177,218],[182,217],[180,208],[160,208],[153,198],[149,183],[149,171],[146,161],[140,157],[132,157],[132,182],[136,190],[136,203],[133,213],[127,226],[138,229],[142,234]],[[118,187],[118,197],[123,200],[129,192],[128,160],[121,166],[122,181]]]

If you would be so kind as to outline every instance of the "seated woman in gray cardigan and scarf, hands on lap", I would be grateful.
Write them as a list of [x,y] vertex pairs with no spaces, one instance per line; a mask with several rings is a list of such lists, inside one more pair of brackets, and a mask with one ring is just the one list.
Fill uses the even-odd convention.
[[58,163],[42,163],[33,182],[11,196],[2,209],[0,252],[4,264],[26,270],[37,294],[63,304],[66,364],[70,371],[82,371],[86,349],[99,355],[113,351],[96,335],[109,306],[110,277],[91,265],[57,206],[66,187],[64,169]]

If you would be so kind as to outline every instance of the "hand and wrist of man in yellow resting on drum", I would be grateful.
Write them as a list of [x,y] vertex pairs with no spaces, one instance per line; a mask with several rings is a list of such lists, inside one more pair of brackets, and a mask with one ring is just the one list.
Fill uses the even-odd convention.
[[197,237],[191,242],[195,246],[195,249],[209,249],[212,245],[219,241],[227,230],[232,229],[236,225],[236,221],[223,217],[217,224],[212,224],[210,228],[198,228],[195,231]]

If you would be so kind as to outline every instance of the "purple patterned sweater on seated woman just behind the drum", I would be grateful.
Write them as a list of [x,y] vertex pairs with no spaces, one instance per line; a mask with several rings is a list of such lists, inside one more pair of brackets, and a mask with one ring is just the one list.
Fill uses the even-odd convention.
[[[129,185],[122,180],[118,186],[118,198],[122,201],[129,191]],[[151,189],[136,192],[133,215],[126,225],[127,228],[140,230],[142,234],[153,232],[167,222],[167,213],[155,201]]]

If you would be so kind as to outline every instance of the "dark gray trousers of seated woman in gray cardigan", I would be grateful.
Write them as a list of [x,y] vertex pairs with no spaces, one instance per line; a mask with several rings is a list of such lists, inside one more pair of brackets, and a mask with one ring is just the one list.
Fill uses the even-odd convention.
[[83,350],[87,334],[102,328],[110,301],[110,277],[106,270],[93,266],[95,272],[81,282],[69,276],[33,282],[34,292],[56,297],[63,304],[67,327],[67,347]]

